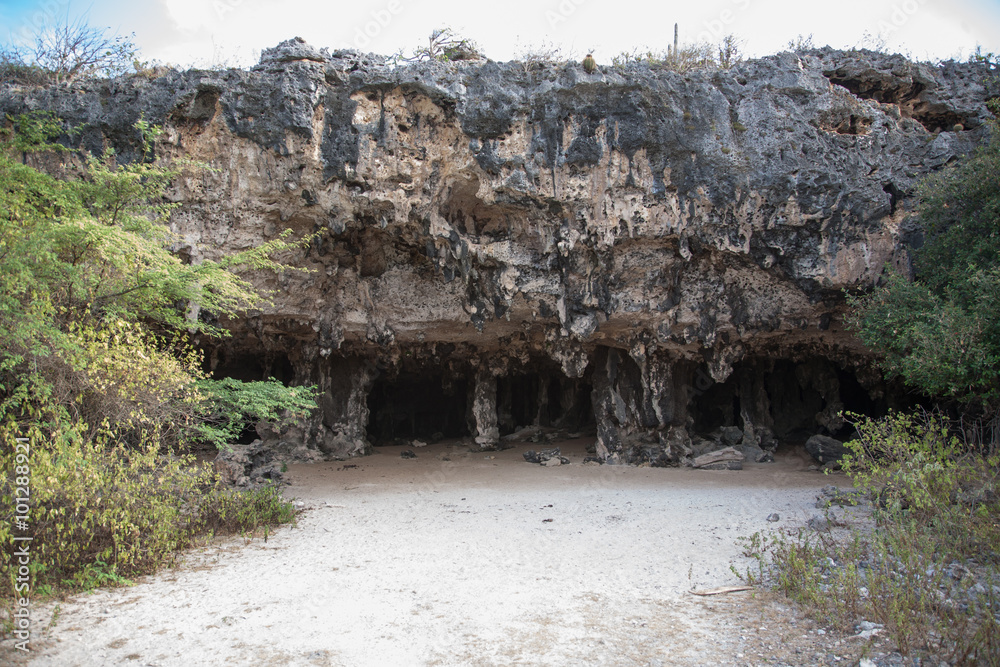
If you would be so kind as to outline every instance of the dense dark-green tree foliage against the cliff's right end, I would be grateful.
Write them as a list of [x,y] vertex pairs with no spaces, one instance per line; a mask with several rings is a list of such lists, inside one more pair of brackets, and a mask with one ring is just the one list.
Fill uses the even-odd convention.
[[[994,107],[995,108],[995,107]],[[887,375],[932,396],[1000,405],[1000,131],[918,188],[915,279],[850,300]]]

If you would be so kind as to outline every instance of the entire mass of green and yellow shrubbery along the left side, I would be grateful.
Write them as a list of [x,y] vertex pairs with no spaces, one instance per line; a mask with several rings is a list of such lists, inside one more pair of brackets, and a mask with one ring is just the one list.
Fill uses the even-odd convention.
[[[8,118],[0,142],[0,599],[15,592],[7,557],[14,498],[30,489],[31,593],[126,583],[213,533],[253,535],[294,513],[278,489],[238,493],[181,454],[224,446],[249,421],[315,407],[312,389],[210,380],[188,335],[259,306],[248,272],[288,270],[282,236],[185,264],[170,248],[165,191],[190,163],[121,163],[53,143],[51,114]],[[34,165],[48,165],[43,171]],[[50,173],[51,172],[51,173]],[[212,315],[199,318],[198,312]],[[17,450],[27,438],[30,459]],[[15,529],[19,531],[15,533]],[[18,591],[23,595],[23,592]]]

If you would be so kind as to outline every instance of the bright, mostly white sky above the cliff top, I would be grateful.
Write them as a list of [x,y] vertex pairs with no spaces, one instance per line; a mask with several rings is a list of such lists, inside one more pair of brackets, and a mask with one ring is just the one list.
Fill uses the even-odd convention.
[[732,33],[749,55],[781,51],[799,35],[817,46],[884,44],[920,60],[967,57],[977,45],[1000,53],[1000,0],[0,0],[0,40],[67,15],[135,33],[145,59],[173,65],[245,66],[294,36],[389,54],[426,43],[443,26],[494,60],[551,44],[572,57],[593,50],[600,63],[623,51],[664,50],[675,22],[682,43]]

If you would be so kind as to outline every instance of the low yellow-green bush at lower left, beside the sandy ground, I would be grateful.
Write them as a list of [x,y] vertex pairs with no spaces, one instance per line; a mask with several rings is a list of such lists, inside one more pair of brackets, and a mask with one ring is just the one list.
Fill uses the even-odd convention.
[[[107,433],[88,439],[86,424],[0,426],[0,549],[13,553],[18,467],[30,470],[32,590],[90,589],[126,583],[174,562],[176,553],[213,534],[252,533],[294,519],[276,488],[238,492],[191,456],[160,444],[124,444]],[[27,464],[15,438],[28,439]],[[0,564],[0,599],[14,594],[11,559]]]

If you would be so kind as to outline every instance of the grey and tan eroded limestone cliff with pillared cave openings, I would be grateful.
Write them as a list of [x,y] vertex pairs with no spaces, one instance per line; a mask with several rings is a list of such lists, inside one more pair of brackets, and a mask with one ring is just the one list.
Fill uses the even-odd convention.
[[249,71],[7,89],[0,111],[52,109],[124,158],[140,116],[162,124],[160,156],[214,168],[172,193],[192,262],[313,235],[284,258],[308,273],[257,276],[273,304],[205,342],[218,374],[318,385],[268,442],[592,425],[601,458],[662,462],[695,433],[756,452],[895,400],[842,290],[909,270],[915,182],[986,132],[979,75],[831,50],[390,68],[291,40]]

